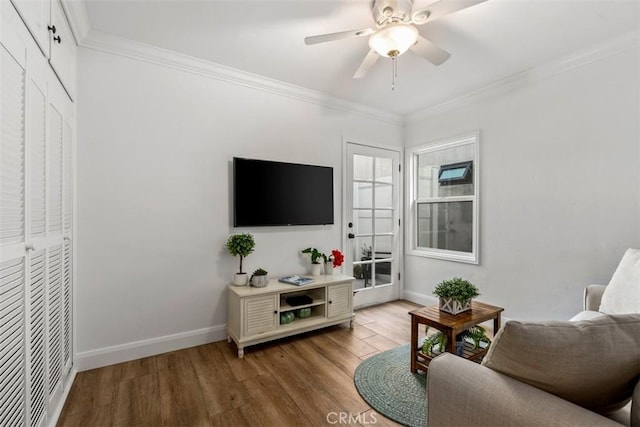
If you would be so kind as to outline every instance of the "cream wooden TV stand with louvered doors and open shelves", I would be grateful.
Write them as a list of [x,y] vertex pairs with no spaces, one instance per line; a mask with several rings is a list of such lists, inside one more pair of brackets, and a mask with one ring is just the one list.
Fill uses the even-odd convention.
[[[349,322],[353,328],[353,280],[351,276],[309,276],[313,283],[303,286],[269,280],[264,288],[229,285],[227,341],[238,346],[238,357],[249,345]],[[291,306],[287,297],[307,295],[313,302]],[[311,316],[296,317],[280,324],[280,313],[311,308]]]

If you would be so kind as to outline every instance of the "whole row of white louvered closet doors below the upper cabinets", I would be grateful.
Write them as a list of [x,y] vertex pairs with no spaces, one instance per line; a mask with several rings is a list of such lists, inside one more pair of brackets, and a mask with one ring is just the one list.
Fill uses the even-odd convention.
[[11,2],[0,20],[0,426],[42,427],[72,361],[72,104]]

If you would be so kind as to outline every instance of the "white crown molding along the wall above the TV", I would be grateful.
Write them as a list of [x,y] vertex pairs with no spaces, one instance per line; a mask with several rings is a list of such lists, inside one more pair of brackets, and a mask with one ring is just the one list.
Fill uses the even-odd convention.
[[111,34],[90,30],[80,46],[160,65],[183,72],[220,80],[238,86],[285,96],[345,113],[357,114],[376,121],[402,127],[402,115],[367,107],[355,102],[328,96],[326,93],[270,79],[258,74],[205,61],[175,51],[158,48]]

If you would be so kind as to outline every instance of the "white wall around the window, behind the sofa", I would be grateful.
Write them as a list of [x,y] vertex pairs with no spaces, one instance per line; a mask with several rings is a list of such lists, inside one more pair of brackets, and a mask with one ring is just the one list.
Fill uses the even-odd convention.
[[640,247],[638,60],[636,48],[532,73],[411,120],[406,146],[480,131],[480,265],[407,256],[408,296],[462,276],[506,317],[567,319],[586,284],[608,283],[624,250]]

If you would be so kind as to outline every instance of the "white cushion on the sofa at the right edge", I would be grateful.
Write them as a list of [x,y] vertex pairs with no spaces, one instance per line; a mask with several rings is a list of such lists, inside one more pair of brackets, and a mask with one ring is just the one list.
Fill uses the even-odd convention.
[[640,313],[640,249],[627,249],[602,294],[600,311]]

